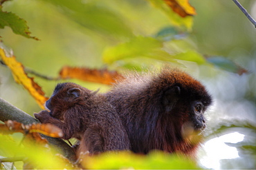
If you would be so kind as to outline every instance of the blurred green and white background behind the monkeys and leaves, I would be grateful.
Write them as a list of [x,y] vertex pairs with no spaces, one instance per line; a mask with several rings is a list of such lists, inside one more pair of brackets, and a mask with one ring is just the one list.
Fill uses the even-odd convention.
[[[213,169],[255,169],[255,28],[231,0],[191,0],[197,14],[187,19],[173,13],[168,16],[163,9],[157,8],[156,2],[7,1],[3,3],[3,10],[25,19],[31,35],[40,41],[14,34],[8,27],[0,30],[0,36],[3,43],[12,48],[17,61],[47,76],[56,77],[64,65],[108,67],[120,72],[146,70],[152,65],[158,67],[164,63],[182,67],[199,79],[214,98],[214,105],[206,115],[208,129],[205,131],[205,145],[199,152],[199,163]],[[256,19],[256,1],[240,0],[240,3]],[[167,39],[163,45],[170,54],[191,50],[202,56],[221,56],[220,62],[226,70],[228,66],[225,66],[223,59],[234,61],[248,73],[239,75],[208,62],[188,61],[188,58],[179,61],[182,65],[173,63],[171,59],[164,61],[160,58],[162,51],[152,52],[152,55],[160,54],[154,57],[149,54],[145,58],[141,54],[139,57],[109,59],[112,57],[107,54],[109,47],[129,42],[138,36]],[[0,65],[0,80],[1,98],[30,115],[40,111],[35,100],[14,82],[10,70],[3,65]],[[55,85],[60,82],[36,76],[35,81],[46,96],[51,96]],[[100,88],[102,92],[109,88],[96,83],[69,81],[93,90]],[[232,137],[226,140],[225,135]],[[215,142],[211,142],[213,140]]]

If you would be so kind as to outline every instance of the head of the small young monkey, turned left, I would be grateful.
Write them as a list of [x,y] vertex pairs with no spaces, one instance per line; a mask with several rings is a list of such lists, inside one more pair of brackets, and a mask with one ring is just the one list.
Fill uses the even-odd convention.
[[64,111],[79,106],[80,103],[91,96],[91,91],[75,83],[59,83],[54,92],[46,101],[46,108],[51,116],[63,119]]

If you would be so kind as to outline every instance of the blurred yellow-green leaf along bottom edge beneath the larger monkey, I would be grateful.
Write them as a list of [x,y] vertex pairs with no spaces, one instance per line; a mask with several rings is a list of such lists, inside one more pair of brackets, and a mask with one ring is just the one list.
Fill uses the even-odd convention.
[[82,165],[86,169],[196,169],[195,162],[183,156],[152,151],[147,156],[127,151],[102,153],[86,157]]

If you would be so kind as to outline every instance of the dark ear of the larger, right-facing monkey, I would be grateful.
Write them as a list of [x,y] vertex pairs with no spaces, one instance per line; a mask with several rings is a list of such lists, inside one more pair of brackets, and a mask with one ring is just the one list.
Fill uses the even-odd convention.
[[174,86],[170,89],[167,89],[167,91],[165,91],[163,96],[163,105],[165,106],[165,109],[167,112],[172,110],[180,94],[181,94],[181,87],[179,86]]

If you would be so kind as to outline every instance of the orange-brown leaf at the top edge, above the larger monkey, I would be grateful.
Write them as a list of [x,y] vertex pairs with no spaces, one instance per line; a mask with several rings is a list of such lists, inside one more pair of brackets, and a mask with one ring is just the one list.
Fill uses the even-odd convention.
[[172,8],[174,12],[181,17],[196,14],[194,7],[190,6],[188,0],[164,0],[165,3]]

